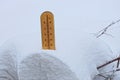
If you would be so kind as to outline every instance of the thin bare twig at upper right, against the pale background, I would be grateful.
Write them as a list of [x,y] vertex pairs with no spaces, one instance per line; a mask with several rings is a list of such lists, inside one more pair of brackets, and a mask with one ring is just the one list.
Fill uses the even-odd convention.
[[103,28],[102,30],[100,30],[100,31],[98,32],[98,34],[97,34],[96,37],[99,38],[99,37],[102,36],[103,34],[107,34],[106,32],[107,32],[108,28],[110,28],[111,26],[113,26],[114,24],[116,24],[116,23],[118,23],[118,22],[120,22],[120,19],[117,20],[117,21],[115,21],[115,22],[110,23],[108,26],[106,26],[105,28]]

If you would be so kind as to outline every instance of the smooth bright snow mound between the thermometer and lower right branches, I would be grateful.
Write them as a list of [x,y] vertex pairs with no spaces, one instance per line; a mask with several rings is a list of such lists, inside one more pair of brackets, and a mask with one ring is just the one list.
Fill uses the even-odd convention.
[[97,66],[112,59],[112,51],[102,40],[78,31],[57,35],[57,50],[54,55],[61,59],[80,80],[92,80],[99,73]]

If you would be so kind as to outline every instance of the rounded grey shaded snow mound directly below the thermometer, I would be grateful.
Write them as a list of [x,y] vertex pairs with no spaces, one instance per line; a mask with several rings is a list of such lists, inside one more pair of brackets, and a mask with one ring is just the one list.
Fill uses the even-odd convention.
[[20,80],[78,80],[68,66],[46,53],[28,56],[19,69]]

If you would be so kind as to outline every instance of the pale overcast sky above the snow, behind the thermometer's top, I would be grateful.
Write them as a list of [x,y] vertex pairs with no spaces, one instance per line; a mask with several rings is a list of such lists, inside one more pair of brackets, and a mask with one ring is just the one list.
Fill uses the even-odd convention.
[[0,0],[0,44],[12,36],[40,32],[44,11],[54,14],[56,33],[91,33],[120,18],[120,0]]

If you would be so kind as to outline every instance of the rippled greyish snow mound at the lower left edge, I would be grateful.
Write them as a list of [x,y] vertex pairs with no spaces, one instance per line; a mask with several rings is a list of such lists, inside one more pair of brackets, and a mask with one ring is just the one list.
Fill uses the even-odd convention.
[[0,47],[0,80],[18,80],[16,52]]

